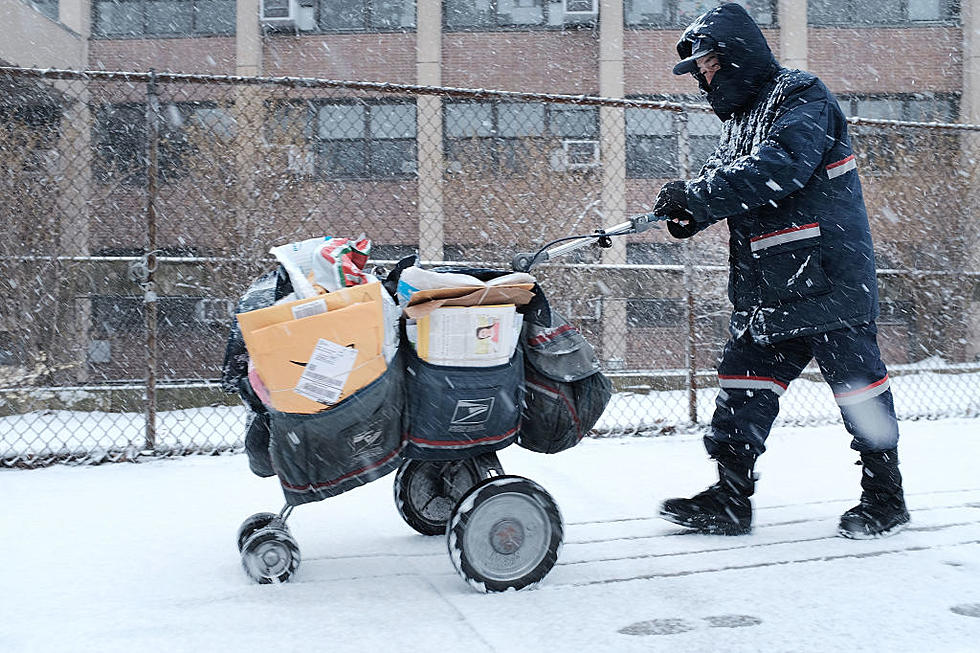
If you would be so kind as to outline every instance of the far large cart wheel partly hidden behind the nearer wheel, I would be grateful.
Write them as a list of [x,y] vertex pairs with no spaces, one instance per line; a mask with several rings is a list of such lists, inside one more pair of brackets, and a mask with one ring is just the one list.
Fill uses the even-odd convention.
[[[496,465],[499,469],[499,462]],[[473,458],[408,460],[395,475],[398,514],[422,535],[443,535],[453,506],[467,490],[490,476],[491,468],[489,463]]]

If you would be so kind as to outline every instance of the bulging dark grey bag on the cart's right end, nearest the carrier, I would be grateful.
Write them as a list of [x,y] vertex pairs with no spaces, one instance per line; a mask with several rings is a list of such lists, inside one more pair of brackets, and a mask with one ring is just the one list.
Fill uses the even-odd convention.
[[526,394],[517,444],[558,453],[578,444],[612,396],[595,351],[578,329],[551,309],[551,324],[524,325]]

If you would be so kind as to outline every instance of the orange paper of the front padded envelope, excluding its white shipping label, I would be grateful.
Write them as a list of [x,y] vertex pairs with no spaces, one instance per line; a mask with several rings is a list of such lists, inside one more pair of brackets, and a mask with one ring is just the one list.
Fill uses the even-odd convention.
[[382,354],[381,302],[362,302],[252,332],[252,363],[269,390],[272,407],[285,413],[318,413],[328,406],[295,392],[320,339],[357,350],[337,401],[368,385],[387,369]]

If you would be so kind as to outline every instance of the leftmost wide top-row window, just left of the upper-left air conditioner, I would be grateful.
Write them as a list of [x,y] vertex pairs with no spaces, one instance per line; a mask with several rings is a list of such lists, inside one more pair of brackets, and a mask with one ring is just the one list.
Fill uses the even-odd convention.
[[96,0],[92,36],[207,36],[235,33],[235,0]]

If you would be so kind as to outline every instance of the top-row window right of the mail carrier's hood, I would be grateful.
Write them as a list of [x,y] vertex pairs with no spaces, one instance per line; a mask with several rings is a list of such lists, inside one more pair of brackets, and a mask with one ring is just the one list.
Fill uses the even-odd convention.
[[958,18],[958,0],[807,0],[810,25],[903,25]]

